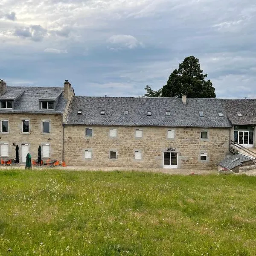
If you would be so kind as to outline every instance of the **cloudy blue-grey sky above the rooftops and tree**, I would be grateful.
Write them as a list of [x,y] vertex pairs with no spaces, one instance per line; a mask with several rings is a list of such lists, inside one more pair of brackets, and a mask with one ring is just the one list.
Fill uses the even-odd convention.
[[255,24],[255,0],[0,0],[0,79],[138,97],[194,55],[218,98],[256,98]]

